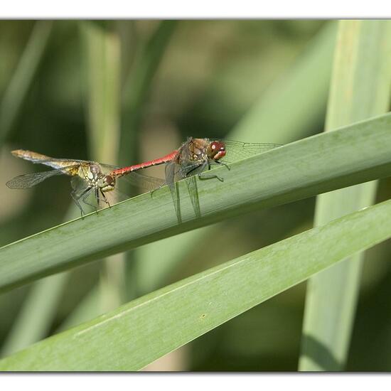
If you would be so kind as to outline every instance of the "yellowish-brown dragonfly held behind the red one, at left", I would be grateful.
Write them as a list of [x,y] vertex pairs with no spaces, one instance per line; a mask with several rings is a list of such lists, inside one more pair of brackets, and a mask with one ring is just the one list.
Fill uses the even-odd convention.
[[[31,188],[52,176],[61,174],[71,176],[72,191],[70,195],[80,209],[82,218],[84,210],[81,203],[90,205],[92,208],[95,208],[95,210],[97,210],[97,206],[100,206],[101,201],[106,203],[109,207],[111,206],[109,200],[107,200],[107,194],[117,188],[117,178],[122,176],[119,173],[115,173],[117,167],[100,164],[96,161],[55,159],[50,156],[23,149],[11,151],[11,154],[36,164],[50,166],[54,169],[16,176],[8,181],[6,186],[16,189]],[[141,186],[148,191],[160,188],[164,184],[164,181],[159,178],[141,175],[140,173],[130,173],[130,175],[127,176],[127,179],[132,185]],[[95,196],[97,205],[92,205],[88,202],[90,195]]]

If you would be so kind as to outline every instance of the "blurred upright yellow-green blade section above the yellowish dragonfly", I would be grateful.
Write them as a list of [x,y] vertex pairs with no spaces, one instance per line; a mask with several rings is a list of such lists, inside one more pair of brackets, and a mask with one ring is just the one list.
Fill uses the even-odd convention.
[[119,33],[111,23],[80,22],[90,156],[97,161],[117,161],[120,128],[121,48]]

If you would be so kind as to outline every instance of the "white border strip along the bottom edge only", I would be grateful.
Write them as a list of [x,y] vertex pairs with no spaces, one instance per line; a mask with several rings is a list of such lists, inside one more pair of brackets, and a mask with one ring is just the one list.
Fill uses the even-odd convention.
[[[1,374],[2,390],[377,390],[390,374],[352,375],[343,373],[61,373]],[[254,386],[254,387],[252,387]],[[23,388],[22,388],[23,387]]]

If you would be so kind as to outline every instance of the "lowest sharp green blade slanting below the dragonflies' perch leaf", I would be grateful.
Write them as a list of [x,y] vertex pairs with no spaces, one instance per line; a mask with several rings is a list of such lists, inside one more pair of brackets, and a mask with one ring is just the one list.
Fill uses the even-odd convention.
[[390,213],[388,200],[195,274],[4,358],[0,370],[144,368],[322,269],[391,237]]

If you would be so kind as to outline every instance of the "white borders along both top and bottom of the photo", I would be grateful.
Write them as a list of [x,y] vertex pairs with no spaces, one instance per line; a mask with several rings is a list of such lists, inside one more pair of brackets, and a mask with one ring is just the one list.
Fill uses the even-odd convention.
[[[1,4],[0,18],[391,18],[390,1],[123,1],[98,2],[90,0],[21,1]],[[60,380],[60,381],[59,381]],[[241,390],[249,384],[266,390],[330,390],[350,389],[360,382],[360,387],[371,389],[386,382],[381,375],[331,375],[331,374],[0,374],[1,388],[29,389],[32,382],[42,390],[69,391],[76,389],[113,389],[117,384],[125,390]],[[130,382],[130,383],[129,383]],[[8,387],[7,387],[8,386]],[[97,387],[98,386],[98,387]]]

